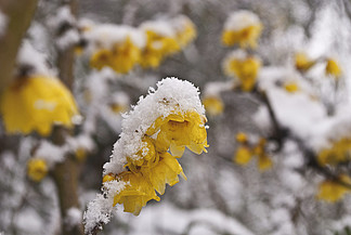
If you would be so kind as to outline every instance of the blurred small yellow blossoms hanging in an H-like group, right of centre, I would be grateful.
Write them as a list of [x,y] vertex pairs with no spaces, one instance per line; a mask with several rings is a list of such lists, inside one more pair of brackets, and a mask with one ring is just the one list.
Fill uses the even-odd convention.
[[272,159],[265,153],[265,139],[261,138],[256,145],[250,145],[247,139],[247,135],[243,132],[239,132],[236,135],[236,141],[239,143],[238,148],[234,155],[233,161],[245,166],[247,165],[253,156],[257,156],[258,168],[260,171],[265,171],[272,168]]

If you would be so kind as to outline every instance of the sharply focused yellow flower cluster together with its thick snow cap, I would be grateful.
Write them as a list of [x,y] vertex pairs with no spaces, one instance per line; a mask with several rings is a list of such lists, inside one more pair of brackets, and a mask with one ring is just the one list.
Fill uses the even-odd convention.
[[[106,197],[135,216],[148,200],[159,200],[156,192],[164,194],[166,184],[177,184],[179,174],[186,179],[177,160],[185,147],[200,154],[208,146],[198,89],[177,78],[166,78],[157,87],[125,115],[120,139],[104,165]],[[110,183],[123,187],[112,193]]]

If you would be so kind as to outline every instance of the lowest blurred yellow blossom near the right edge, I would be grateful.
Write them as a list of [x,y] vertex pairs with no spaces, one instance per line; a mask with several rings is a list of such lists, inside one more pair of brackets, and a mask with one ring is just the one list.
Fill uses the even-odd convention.
[[[342,174],[340,175],[340,180],[344,183],[350,184],[351,179]],[[320,200],[326,200],[328,203],[335,203],[340,199],[347,194],[350,193],[350,188],[341,185],[340,183],[333,181],[333,180],[325,180],[320,184],[317,198]]]

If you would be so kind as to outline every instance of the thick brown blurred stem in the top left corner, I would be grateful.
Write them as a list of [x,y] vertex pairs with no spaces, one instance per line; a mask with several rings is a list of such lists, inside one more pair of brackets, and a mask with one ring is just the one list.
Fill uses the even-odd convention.
[[6,18],[4,35],[0,35],[0,93],[12,79],[21,41],[28,29],[38,0],[1,0],[0,10]]

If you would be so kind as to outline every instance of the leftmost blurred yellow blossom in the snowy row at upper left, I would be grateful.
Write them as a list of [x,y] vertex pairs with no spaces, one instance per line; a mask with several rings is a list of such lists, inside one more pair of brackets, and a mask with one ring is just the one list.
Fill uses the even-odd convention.
[[116,73],[127,74],[139,63],[140,56],[140,49],[127,37],[123,42],[115,43],[112,50],[101,49],[95,52],[90,58],[90,66],[96,69],[107,66]]

